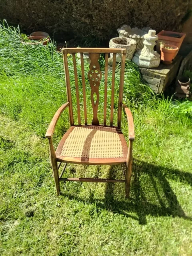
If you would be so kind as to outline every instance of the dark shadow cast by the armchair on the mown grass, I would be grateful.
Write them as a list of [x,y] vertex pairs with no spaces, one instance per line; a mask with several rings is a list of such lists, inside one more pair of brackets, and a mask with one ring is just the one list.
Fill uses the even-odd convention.
[[[111,166],[108,178],[114,178],[114,174],[116,173],[115,168],[116,166]],[[143,177],[147,178],[147,180]],[[173,218],[180,217],[192,220],[192,217],[186,216],[182,210],[167,178],[169,180],[179,180],[180,182],[192,184],[192,174],[189,172],[182,172],[177,169],[169,169],[134,160],[130,198],[128,200],[115,199],[115,184],[107,183],[104,200],[99,201],[90,197],[89,202],[110,212],[123,214],[126,217],[138,220],[140,224],[146,224],[147,215],[172,216]],[[149,202],[151,200],[147,196],[150,190],[152,202]],[[74,199],[74,196],[68,197]],[[77,197],[76,199],[80,200]]]

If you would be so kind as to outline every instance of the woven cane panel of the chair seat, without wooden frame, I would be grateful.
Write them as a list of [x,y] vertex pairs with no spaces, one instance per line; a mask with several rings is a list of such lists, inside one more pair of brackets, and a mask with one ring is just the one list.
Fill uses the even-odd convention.
[[104,126],[74,126],[67,136],[60,156],[77,158],[122,158],[118,129]]

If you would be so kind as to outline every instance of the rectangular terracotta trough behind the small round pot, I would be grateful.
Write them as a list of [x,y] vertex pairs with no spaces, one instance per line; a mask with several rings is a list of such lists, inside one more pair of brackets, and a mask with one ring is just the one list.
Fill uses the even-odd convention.
[[157,40],[157,52],[160,53],[160,42],[163,42],[164,44],[172,44],[172,45],[175,45],[178,47],[178,50],[175,54],[175,56],[176,56],[178,54],[178,51],[180,49],[180,46],[181,46],[186,34],[162,30],[161,32],[159,32],[157,34],[157,36],[159,38]]

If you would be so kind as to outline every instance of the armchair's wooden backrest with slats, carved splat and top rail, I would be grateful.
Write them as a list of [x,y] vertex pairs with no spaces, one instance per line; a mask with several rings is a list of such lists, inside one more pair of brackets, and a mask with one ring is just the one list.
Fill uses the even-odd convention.
[[[120,81],[119,81],[119,96],[118,96],[118,116],[117,116],[117,126],[121,127],[122,118],[122,98],[123,98],[123,86],[124,86],[124,69],[125,69],[125,58],[126,49],[117,48],[63,48],[63,60],[64,60],[64,70],[65,70],[65,80],[67,89],[67,98],[70,102],[69,105],[69,115],[70,124],[74,125],[73,108],[72,108],[72,96],[71,96],[71,86],[70,77],[68,70],[68,54],[72,54],[73,65],[74,65],[74,78],[75,78],[75,88],[76,88],[76,101],[77,101],[77,112],[78,112],[78,124],[81,125],[80,117],[80,99],[79,99],[79,88],[78,88],[78,75],[77,75],[77,65],[76,65],[76,53],[80,53],[81,61],[81,75],[82,75],[82,91],[83,91],[83,101],[84,101],[84,119],[85,125],[87,125],[87,109],[86,109],[86,88],[85,88],[85,74],[84,74],[84,56],[83,53],[89,53],[90,66],[88,72],[88,80],[91,88],[91,103],[93,108],[93,120],[92,125],[99,125],[98,120],[98,104],[99,104],[99,85],[102,77],[102,72],[100,71],[100,64],[98,62],[100,54],[105,54],[105,72],[104,72],[104,126],[106,126],[106,113],[107,113],[107,86],[108,86],[108,54],[113,53],[113,64],[112,64],[112,84],[111,84],[111,109],[110,109],[110,126],[113,126],[113,115],[114,115],[114,86],[115,86],[115,69],[116,69],[116,54],[121,55],[121,70],[120,70]],[[94,102],[94,94],[96,94],[96,101]]]

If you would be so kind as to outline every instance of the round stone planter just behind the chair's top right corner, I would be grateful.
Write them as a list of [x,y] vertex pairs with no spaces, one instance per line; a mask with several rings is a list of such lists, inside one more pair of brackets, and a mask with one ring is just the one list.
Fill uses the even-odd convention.
[[[132,60],[136,50],[136,40],[131,38],[112,38],[109,42],[109,48],[124,48],[126,49],[126,60]],[[111,58],[113,53],[110,54]],[[116,62],[121,62],[121,54],[116,54]]]

